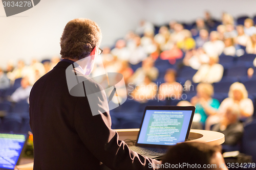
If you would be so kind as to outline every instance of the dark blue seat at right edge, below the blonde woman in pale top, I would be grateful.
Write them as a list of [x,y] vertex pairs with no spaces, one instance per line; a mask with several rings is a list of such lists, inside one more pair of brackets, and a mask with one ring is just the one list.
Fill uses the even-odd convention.
[[242,138],[242,153],[252,156],[253,162],[256,162],[256,120],[244,127],[244,135]]

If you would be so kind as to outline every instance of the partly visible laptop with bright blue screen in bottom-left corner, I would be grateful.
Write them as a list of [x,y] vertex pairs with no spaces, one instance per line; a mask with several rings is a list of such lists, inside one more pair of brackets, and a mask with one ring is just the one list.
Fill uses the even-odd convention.
[[29,133],[0,133],[0,170],[14,169],[24,153]]

